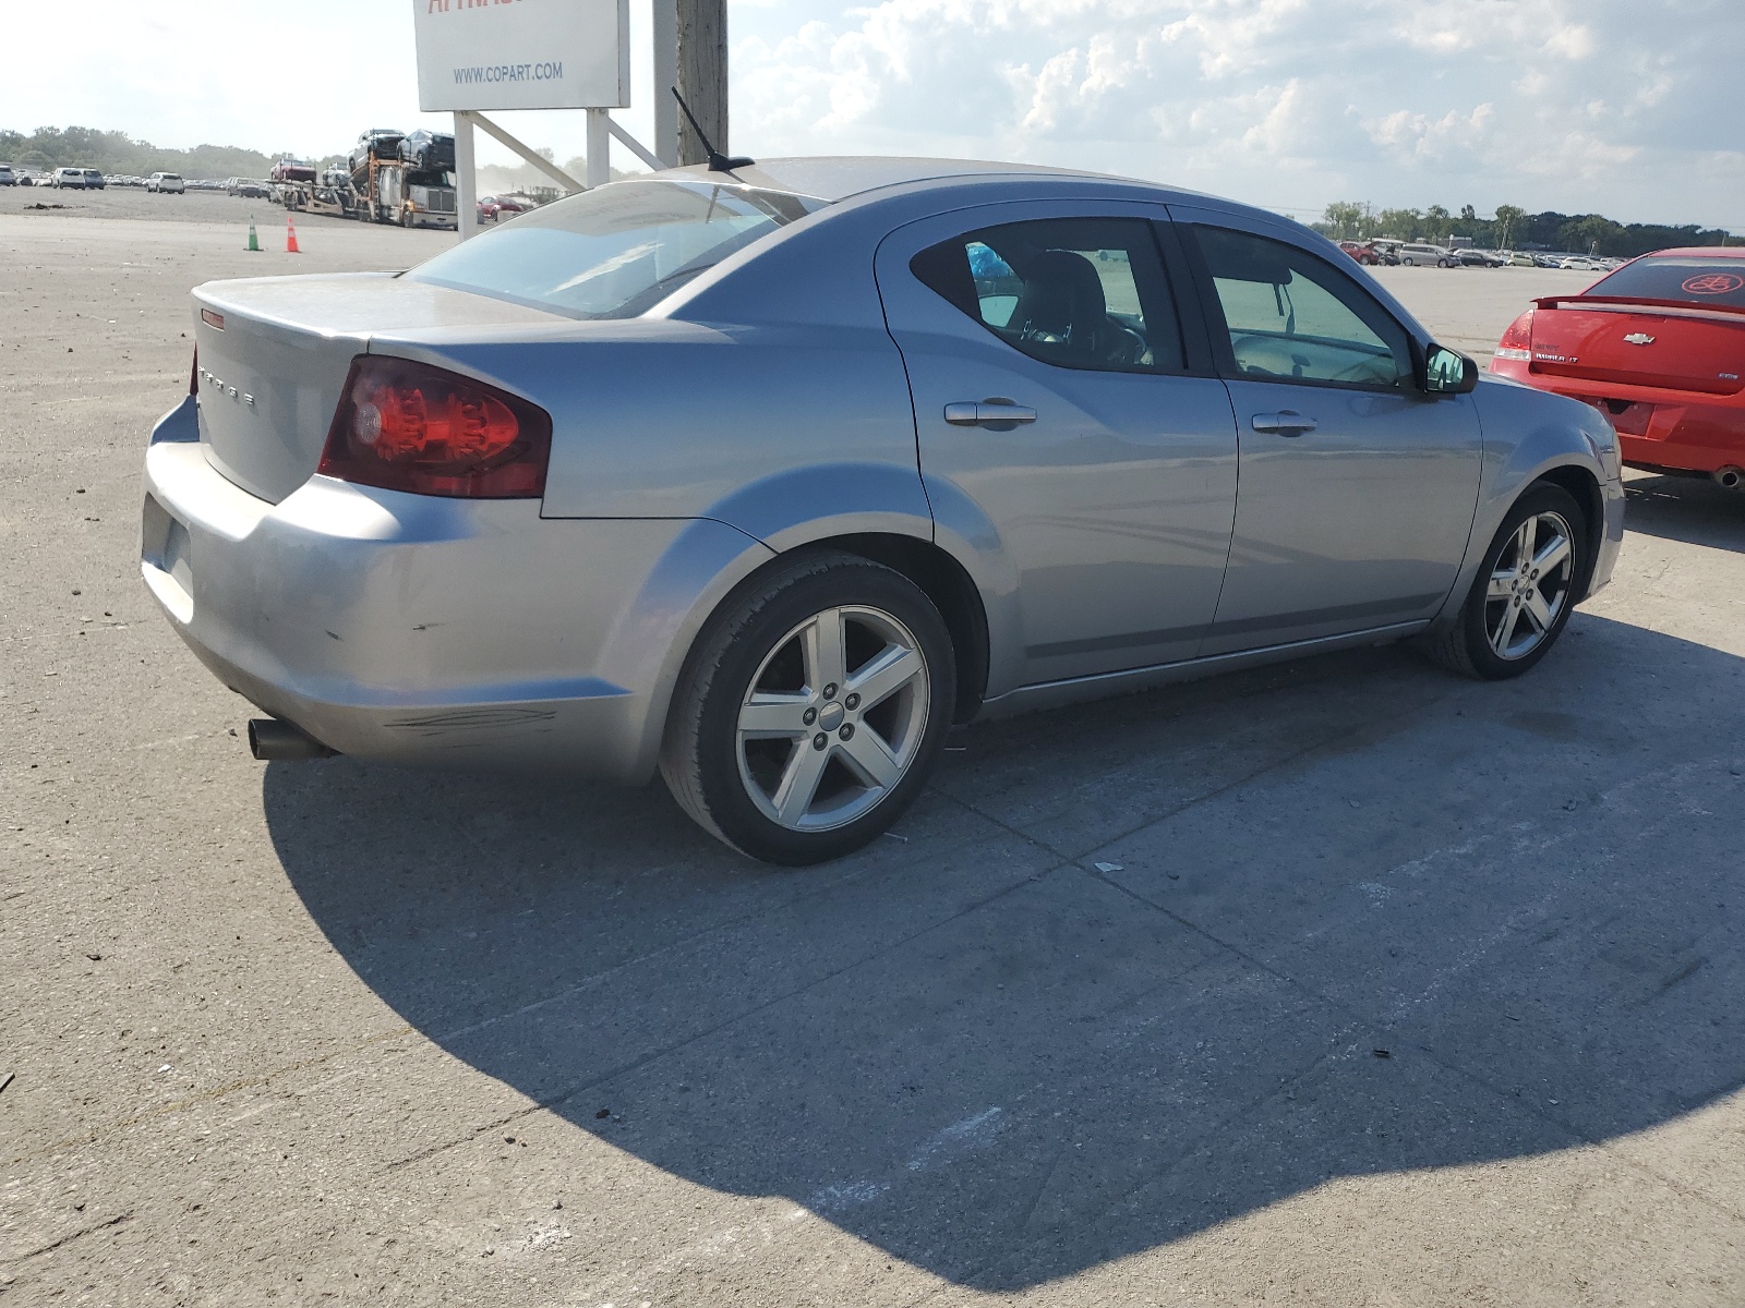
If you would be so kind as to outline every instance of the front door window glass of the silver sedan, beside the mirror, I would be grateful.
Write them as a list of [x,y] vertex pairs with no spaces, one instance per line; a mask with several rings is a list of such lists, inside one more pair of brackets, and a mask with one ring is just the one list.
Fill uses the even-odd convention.
[[1195,227],[1206,272],[1242,377],[1401,389],[1410,340],[1393,316],[1331,263],[1223,227]]

